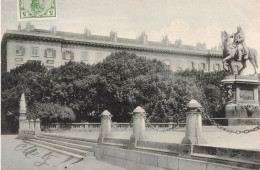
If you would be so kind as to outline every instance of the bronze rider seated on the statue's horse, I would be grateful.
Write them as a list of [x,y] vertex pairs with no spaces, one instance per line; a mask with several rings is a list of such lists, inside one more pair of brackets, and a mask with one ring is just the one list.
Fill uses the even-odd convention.
[[242,61],[242,57],[244,57],[243,59],[248,59],[247,50],[244,45],[245,36],[241,26],[237,27],[237,32],[232,34],[230,38],[234,38],[233,44],[237,47],[237,61]]

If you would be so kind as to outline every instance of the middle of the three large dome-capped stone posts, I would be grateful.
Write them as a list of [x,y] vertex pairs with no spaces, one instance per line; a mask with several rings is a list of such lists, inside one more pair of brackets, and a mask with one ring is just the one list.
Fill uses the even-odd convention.
[[137,140],[142,140],[145,133],[145,110],[138,106],[133,111],[133,135],[130,138],[129,149],[134,149]]

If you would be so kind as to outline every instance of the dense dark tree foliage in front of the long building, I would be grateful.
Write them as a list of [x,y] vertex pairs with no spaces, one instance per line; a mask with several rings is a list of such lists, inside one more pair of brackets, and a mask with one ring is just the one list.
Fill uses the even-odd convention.
[[25,93],[29,116],[46,122],[100,122],[104,110],[113,121],[129,122],[137,106],[150,121],[169,122],[184,114],[191,99],[212,116],[223,116],[224,76],[221,71],[173,73],[156,59],[124,51],[98,64],[69,62],[49,71],[40,63],[26,63],[2,75],[2,112],[18,115]]

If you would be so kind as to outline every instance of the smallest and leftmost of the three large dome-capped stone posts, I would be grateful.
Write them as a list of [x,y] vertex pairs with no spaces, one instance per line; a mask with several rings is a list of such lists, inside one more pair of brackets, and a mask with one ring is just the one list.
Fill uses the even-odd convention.
[[111,117],[109,111],[105,110],[101,113],[101,132],[98,137],[98,143],[102,144],[104,137],[111,135]]

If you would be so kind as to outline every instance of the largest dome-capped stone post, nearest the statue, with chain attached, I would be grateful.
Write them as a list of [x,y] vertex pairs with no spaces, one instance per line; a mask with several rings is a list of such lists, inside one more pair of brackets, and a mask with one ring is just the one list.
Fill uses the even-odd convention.
[[182,144],[205,144],[206,140],[202,135],[201,104],[191,100],[187,105],[186,113],[186,134]]

